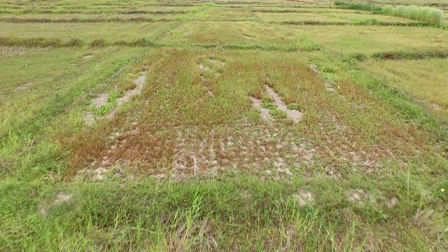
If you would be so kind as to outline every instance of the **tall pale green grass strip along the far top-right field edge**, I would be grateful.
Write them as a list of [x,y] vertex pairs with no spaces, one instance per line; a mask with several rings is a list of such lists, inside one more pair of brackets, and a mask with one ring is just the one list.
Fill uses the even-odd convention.
[[[351,10],[366,10],[372,13],[408,18],[432,25],[440,25],[443,21],[443,11],[428,6],[379,6],[375,3],[349,3],[336,1],[335,6]],[[372,21],[372,20],[371,20]]]

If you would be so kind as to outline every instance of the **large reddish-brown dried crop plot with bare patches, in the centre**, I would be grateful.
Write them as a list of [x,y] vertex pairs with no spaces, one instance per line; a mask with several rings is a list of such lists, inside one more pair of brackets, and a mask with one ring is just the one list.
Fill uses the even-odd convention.
[[[110,166],[125,160],[134,174],[181,178],[236,169],[344,179],[353,171],[380,172],[384,159],[405,162],[402,157],[429,148],[423,132],[397,121],[393,109],[349,79],[338,83],[346,99],[326,92],[306,62],[279,52],[160,48],[141,63],[147,84],[135,106],[69,141],[69,167],[98,167],[106,156]],[[221,67],[219,78],[207,76],[214,67]],[[300,123],[253,118],[248,97],[262,99],[265,85],[285,106],[304,112]],[[127,134],[136,130],[132,123],[138,131]],[[111,139],[115,134],[120,137]]]

